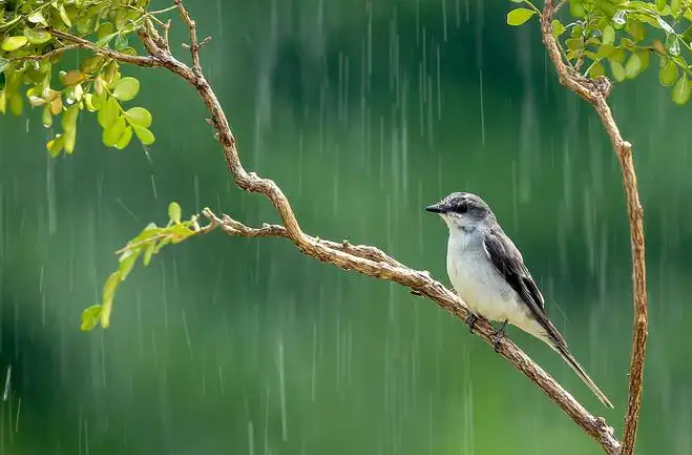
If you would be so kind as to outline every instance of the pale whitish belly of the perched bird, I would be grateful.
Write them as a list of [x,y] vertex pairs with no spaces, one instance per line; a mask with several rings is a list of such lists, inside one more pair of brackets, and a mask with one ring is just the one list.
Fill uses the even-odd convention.
[[514,323],[523,319],[524,309],[517,302],[514,290],[499,279],[497,271],[475,264],[447,264],[450,281],[459,296],[474,313],[491,321]]

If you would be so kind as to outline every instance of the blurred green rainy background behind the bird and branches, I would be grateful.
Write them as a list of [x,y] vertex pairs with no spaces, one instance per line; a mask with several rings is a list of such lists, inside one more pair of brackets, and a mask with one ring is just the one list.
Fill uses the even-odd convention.
[[[508,2],[481,0],[186,3],[213,36],[204,70],[245,166],[276,180],[306,232],[377,245],[446,283],[446,228],[421,208],[482,195],[616,409],[512,337],[619,433],[632,321],[620,172],[589,106],[558,86],[535,20],[511,29]],[[646,214],[639,453],[690,454],[692,111],[654,68],[613,95]],[[38,110],[0,122],[0,455],[600,453],[437,306],[284,239],[167,248],[121,286],[110,329],[81,333],[113,252],[165,223],[170,201],[277,221],[229,179],[191,87],[123,72],[142,81],[130,105],[154,115],[148,153],[106,149],[84,115],[76,153],[51,160]]]

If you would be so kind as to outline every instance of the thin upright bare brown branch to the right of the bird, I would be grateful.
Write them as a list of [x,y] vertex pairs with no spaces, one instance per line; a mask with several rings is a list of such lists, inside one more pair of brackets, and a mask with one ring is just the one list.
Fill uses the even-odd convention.
[[[561,2],[560,5],[564,3]],[[560,6],[558,5],[558,6]],[[634,327],[632,333],[632,356],[630,359],[629,400],[625,414],[621,455],[632,455],[637,436],[637,424],[642,401],[644,359],[648,338],[648,309],[646,291],[646,262],[644,256],[644,210],[639,201],[637,175],[632,159],[632,145],[625,141],[608,105],[610,82],[605,77],[598,81],[589,80],[571,71],[563,62],[557,41],[552,34],[551,22],[556,8],[553,0],[546,0],[541,17],[541,32],[548,55],[555,65],[560,83],[588,101],[601,118],[613,150],[622,168],[622,180],[627,199],[627,215],[630,226],[632,250],[632,282],[634,290]]]

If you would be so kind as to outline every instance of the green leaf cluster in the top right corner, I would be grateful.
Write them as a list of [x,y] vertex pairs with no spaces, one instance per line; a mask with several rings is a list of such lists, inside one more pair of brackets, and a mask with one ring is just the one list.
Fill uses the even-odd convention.
[[[526,8],[507,14],[521,25],[540,10],[529,0],[511,0]],[[634,79],[658,57],[658,79],[672,87],[678,105],[692,97],[692,3],[687,0],[569,0],[552,21],[565,62],[591,79],[609,74],[616,82]],[[583,69],[585,67],[585,69]]]

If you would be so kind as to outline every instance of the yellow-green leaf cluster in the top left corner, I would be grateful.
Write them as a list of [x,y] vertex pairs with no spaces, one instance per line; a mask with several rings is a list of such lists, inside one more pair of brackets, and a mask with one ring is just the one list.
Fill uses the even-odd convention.
[[0,113],[9,107],[21,116],[26,100],[42,108],[46,128],[60,117],[61,132],[46,144],[53,157],[74,152],[85,108],[97,112],[106,146],[125,148],[133,134],[145,146],[154,143],[149,111],[123,107],[139,92],[139,81],[122,77],[117,61],[87,55],[78,68],[55,69],[71,49],[56,32],[136,55],[129,39],[151,17],[148,5],[149,0],[0,0]]

